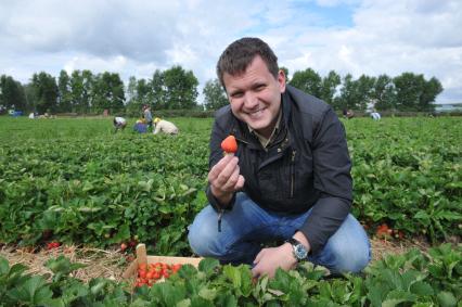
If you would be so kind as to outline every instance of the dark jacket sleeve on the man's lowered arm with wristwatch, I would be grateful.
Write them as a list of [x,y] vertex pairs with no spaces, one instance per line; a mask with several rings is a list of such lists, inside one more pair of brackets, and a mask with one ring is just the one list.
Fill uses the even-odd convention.
[[318,253],[337,231],[351,208],[352,179],[345,128],[332,108],[323,114],[313,131],[313,180],[320,199],[300,231],[311,253]]

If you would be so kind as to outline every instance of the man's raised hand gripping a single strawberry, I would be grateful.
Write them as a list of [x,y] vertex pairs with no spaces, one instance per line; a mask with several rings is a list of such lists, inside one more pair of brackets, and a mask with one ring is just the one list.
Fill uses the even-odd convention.
[[210,191],[218,202],[228,205],[234,192],[244,187],[244,177],[240,175],[239,158],[234,155],[224,155],[208,172]]

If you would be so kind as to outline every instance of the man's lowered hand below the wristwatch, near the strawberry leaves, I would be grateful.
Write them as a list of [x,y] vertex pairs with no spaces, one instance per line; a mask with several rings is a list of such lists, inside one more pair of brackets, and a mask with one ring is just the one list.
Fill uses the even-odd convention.
[[284,243],[278,247],[262,248],[254,260],[255,267],[252,274],[256,278],[268,276],[273,278],[275,270],[281,268],[285,271],[295,268],[297,259],[292,252],[292,245]]

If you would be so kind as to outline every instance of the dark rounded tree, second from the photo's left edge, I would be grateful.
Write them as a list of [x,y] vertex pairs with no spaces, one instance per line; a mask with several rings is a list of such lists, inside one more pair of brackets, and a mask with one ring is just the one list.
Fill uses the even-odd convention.
[[59,90],[54,77],[44,72],[34,74],[31,85],[37,101],[37,111],[39,113],[56,112]]

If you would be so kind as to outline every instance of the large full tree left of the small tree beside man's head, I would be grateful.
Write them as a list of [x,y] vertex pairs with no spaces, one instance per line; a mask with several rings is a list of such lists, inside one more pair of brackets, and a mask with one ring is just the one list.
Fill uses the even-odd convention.
[[166,108],[194,108],[197,105],[197,78],[181,66],[174,66],[164,72],[166,89]]

